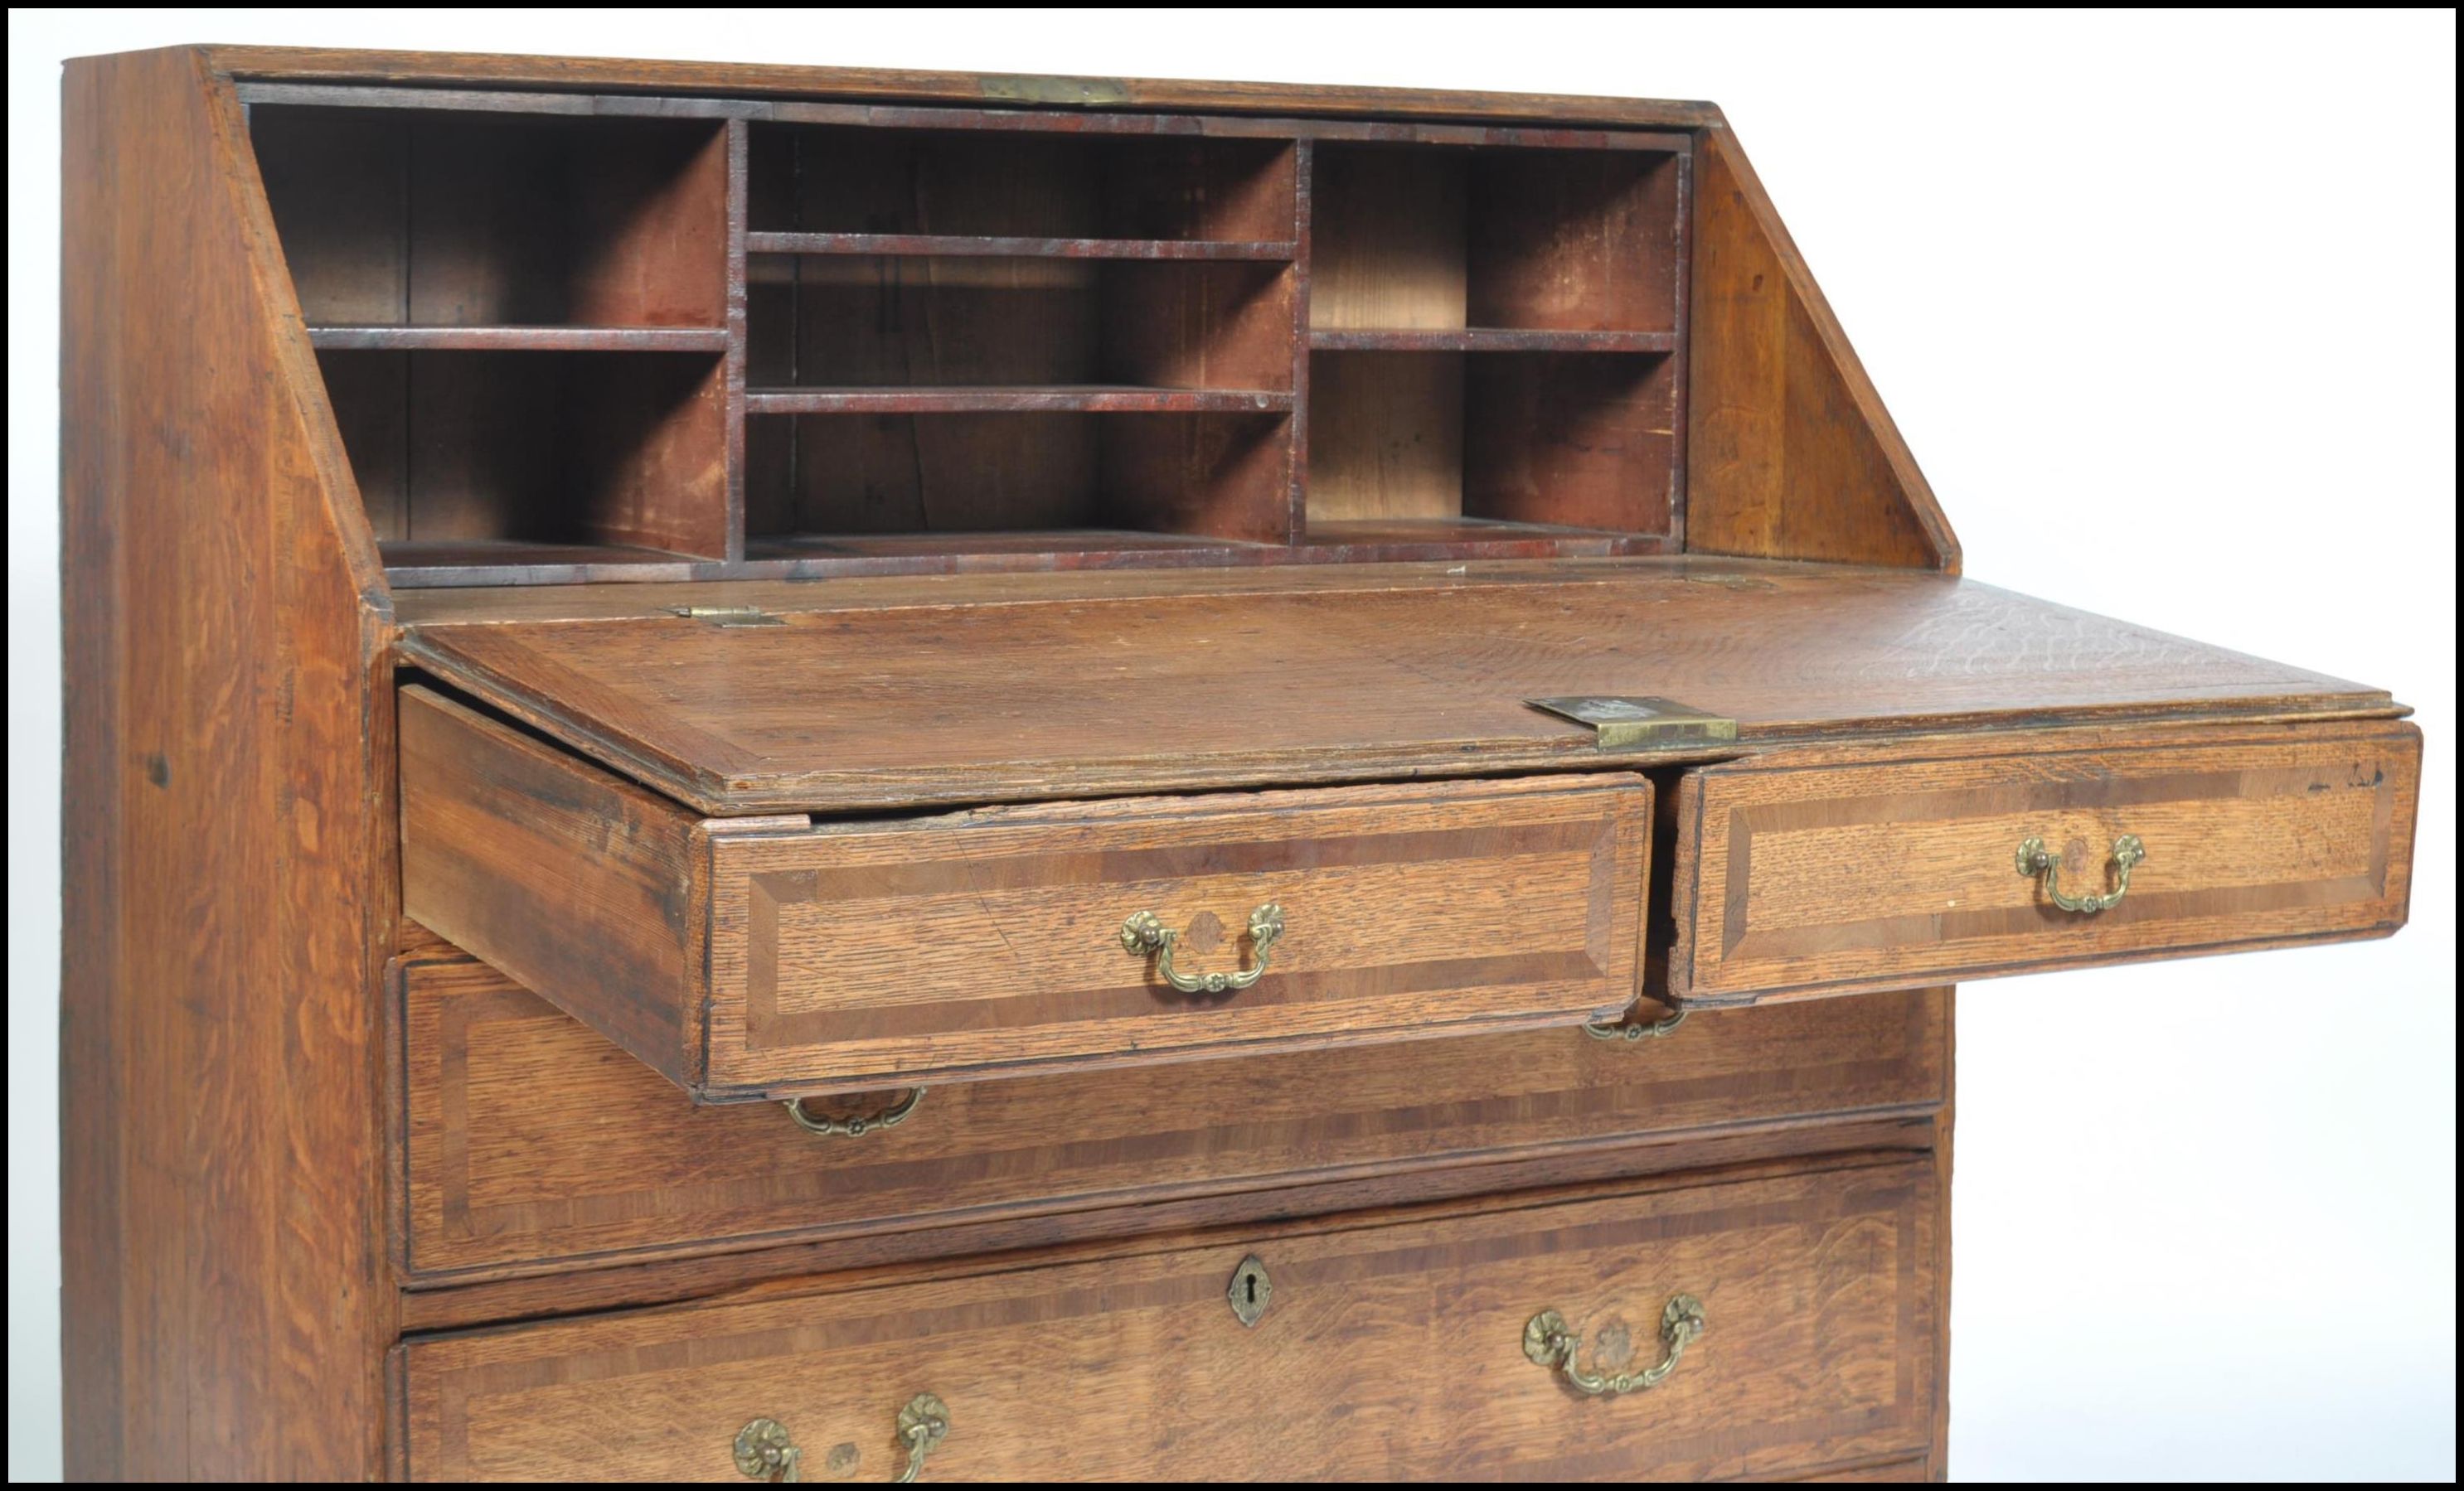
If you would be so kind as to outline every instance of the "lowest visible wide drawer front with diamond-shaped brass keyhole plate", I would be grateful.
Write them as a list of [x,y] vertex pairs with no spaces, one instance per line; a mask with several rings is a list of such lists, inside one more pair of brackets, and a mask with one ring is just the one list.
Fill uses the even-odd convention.
[[[919,1395],[949,1420],[924,1481],[1880,1464],[1932,1444],[1934,1203],[1932,1161],[1868,1163],[414,1341],[409,1471],[734,1481],[771,1420],[806,1479],[882,1481]],[[1557,1311],[1582,1373],[1641,1373],[1680,1294],[1705,1328],[1653,1387],[1587,1397],[1525,1353]]]

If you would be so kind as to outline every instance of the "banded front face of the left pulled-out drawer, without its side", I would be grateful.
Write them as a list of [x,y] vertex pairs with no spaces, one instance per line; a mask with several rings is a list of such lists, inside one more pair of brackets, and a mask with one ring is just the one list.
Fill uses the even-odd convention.
[[[715,838],[705,1092],[1616,1015],[1641,991],[1648,835],[1646,779],[1574,776]],[[1131,917],[1170,946],[1131,951]]]

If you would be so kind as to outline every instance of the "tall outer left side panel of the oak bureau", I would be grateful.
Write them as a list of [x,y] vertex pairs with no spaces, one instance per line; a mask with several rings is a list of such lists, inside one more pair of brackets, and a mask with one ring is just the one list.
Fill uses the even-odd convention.
[[384,584],[229,86],[71,62],[62,160],[67,1471],[357,1481]]

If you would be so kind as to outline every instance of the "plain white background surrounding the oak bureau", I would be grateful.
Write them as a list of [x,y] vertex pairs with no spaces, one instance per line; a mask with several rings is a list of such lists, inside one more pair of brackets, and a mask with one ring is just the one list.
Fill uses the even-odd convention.
[[[1961,1479],[2454,1479],[2454,12],[10,12],[10,1479],[59,1471],[57,59],[1715,99],[1974,579],[2390,688],[2393,941],[1971,986]],[[1062,1469],[1062,1466],[1055,1466]]]

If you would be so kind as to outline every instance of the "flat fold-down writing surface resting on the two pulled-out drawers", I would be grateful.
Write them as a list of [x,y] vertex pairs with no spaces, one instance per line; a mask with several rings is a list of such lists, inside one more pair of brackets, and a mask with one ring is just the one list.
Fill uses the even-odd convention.
[[[407,656],[710,813],[1624,764],[1523,702],[1584,693],[1735,717],[1740,749],[2393,712],[2378,690],[1922,572],[1629,562],[1483,584],[1439,569],[1390,589],[1259,587],[1237,609],[1205,584],[872,609],[830,609],[853,587],[813,589],[754,591],[806,606],[781,626],[421,626]],[[1239,727],[1193,729],[1212,702]]]

